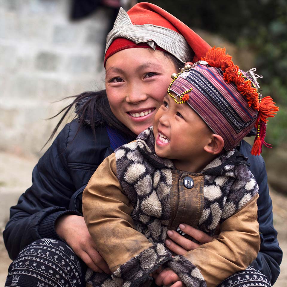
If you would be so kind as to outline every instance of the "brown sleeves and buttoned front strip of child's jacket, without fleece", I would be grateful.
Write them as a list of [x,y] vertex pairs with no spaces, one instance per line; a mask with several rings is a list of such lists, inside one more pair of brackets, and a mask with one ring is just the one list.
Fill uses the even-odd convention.
[[[187,189],[183,178],[190,176],[194,187]],[[199,224],[203,212],[203,177],[172,170],[169,228],[179,224]],[[211,242],[188,251],[185,257],[201,271],[207,286],[217,286],[237,271],[244,270],[259,251],[257,222],[258,195],[220,225],[219,234]],[[132,204],[124,195],[117,179],[115,154],[107,157],[91,177],[83,193],[83,214],[97,249],[114,272],[132,257],[152,246],[135,230],[131,218]]]

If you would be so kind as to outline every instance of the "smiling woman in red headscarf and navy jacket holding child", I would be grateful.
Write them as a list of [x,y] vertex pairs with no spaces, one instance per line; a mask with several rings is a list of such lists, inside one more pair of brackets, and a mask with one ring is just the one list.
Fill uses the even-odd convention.
[[[85,286],[86,265],[109,273],[81,214],[83,189],[106,156],[152,124],[170,75],[186,62],[199,60],[209,48],[186,25],[153,4],[139,3],[128,14],[121,12],[108,35],[106,91],[83,93],[68,106],[76,103],[78,120],[59,133],[34,168],[33,185],[11,207],[3,234],[14,261],[6,286]],[[153,25],[143,26],[146,23]],[[239,149],[250,158],[251,172],[259,184],[262,244],[252,266],[274,283],[282,253],[272,224],[264,161],[252,157],[244,141]],[[211,240],[188,226],[184,232],[201,243]],[[196,247],[174,231],[169,236],[174,241],[167,245],[177,254]],[[267,281],[264,284],[268,286]]]

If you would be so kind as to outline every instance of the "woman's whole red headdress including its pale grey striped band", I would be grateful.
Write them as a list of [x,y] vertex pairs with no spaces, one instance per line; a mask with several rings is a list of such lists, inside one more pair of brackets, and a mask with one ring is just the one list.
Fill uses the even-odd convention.
[[167,11],[141,2],[128,12],[120,8],[114,28],[107,36],[104,65],[113,54],[128,48],[166,51],[185,63],[204,57],[210,46]]

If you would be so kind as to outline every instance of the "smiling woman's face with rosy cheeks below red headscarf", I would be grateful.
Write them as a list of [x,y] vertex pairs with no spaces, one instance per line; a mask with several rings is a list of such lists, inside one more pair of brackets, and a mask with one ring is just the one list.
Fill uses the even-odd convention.
[[106,61],[106,92],[113,114],[135,134],[153,124],[177,68],[161,51],[131,48]]

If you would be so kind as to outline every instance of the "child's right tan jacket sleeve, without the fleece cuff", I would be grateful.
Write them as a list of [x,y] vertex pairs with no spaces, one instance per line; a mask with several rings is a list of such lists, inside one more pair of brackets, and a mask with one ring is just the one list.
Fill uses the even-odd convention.
[[185,254],[201,272],[208,287],[244,270],[259,251],[258,195],[220,225],[219,236]]

